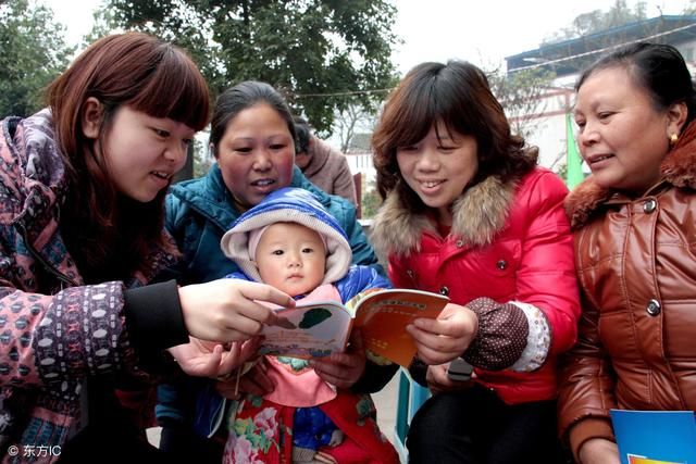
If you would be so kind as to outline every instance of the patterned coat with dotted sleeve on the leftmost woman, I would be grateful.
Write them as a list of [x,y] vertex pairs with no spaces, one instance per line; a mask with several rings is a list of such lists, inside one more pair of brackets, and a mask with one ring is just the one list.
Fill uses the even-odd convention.
[[[153,250],[147,275],[85,285],[60,234],[65,167],[49,111],[0,127],[0,455],[52,462],[76,428],[86,379],[137,371],[124,289],[145,285],[173,256]],[[47,448],[25,456],[29,447]]]

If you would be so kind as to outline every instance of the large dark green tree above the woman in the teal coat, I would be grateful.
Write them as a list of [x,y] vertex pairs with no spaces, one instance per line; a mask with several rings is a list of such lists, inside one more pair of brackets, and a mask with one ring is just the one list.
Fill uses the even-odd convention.
[[281,90],[318,133],[396,79],[387,0],[111,0],[116,24],[189,50],[213,95],[245,79]]

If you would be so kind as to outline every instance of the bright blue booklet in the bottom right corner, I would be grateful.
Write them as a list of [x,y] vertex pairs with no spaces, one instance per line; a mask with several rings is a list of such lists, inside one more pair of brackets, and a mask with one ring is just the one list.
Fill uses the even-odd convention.
[[696,464],[693,411],[611,410],[622,464]]

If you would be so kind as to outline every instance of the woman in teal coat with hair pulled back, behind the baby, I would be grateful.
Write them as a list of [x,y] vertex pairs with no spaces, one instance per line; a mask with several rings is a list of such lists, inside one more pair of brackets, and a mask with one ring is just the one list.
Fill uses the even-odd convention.
[[[202,178],[172,186],[166,198],[166,229],[183,256],[162,278],[175,277],[181,284],[206,283],[238,271],[220,247],[222,236],[244,212],[269,193],[283,187],[308,190],[328,211],[348,237],[352,263],[374,267],[384,274],[374,250],[347,200],[327,195],[311,184],[295,166],[295,124],[281,95],[269,84],[248,80],[225,90],[215,102],[210,147],[216,163]],[[365,374],[353,391],[372,392],[394,374],[368,361]],[[373,372],[374,369],[374,372]],[[220,440],[200,440],[194,434],[197,392],[206,383],[188,379],[159,389],[157,418],[162,425],[161,448],[197,462],[220,463]],[[220,381],[220,388],[234,379]],[[243,378],[243,391],[262,396],[273,383],[259,363]],[[208,434],[207,434],[208,435]],[[204,457],[202,450],[210,453]]]

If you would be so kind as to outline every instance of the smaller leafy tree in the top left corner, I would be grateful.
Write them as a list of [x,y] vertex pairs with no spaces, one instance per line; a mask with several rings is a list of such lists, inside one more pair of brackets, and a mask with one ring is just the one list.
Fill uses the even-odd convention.
[[53,12],[28,0],[0,2],[0,117],[38,111],[44,89],[75,51]]

